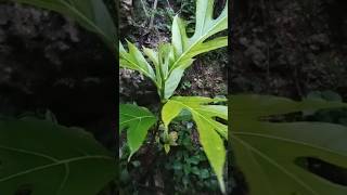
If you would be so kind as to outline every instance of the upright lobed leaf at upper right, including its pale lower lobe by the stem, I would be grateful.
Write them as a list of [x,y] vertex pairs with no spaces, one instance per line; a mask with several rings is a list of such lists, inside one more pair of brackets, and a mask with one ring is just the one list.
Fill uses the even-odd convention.
[[169,64],[169,74],[165,84],[164,99],[169,99],[177,89],[185,68],[194,62],[193,57],[201,53],[228,46],[228,37],[217,37],[206,41],[211,36],[228,28],[228,1],[221,14],[213,18],[214,0],[196,1],[195,32],[188,38],[184,22],[176,15],[172,22],[172,40],[175,61]]

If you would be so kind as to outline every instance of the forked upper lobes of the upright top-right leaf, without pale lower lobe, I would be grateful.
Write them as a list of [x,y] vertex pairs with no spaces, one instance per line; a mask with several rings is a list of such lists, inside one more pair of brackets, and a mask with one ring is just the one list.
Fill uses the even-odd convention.
[[187,36],[184,22],[178,15],[175,16],[171,30],[177,61],[170,70],[197,54],[228,46],[228,37],[219,37],[205,42],[211,36],[228,28],[228,1],[217,18],[213,18],[214,3],[215,0],[197,0],[195,32],[191,38]]

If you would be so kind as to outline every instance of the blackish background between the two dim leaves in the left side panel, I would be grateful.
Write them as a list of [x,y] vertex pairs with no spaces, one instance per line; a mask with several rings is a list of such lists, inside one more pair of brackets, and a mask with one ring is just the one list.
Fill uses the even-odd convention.
[[80,127],[117,154],[115,62],[114,51],[69,18],[0,3],[0,116]]

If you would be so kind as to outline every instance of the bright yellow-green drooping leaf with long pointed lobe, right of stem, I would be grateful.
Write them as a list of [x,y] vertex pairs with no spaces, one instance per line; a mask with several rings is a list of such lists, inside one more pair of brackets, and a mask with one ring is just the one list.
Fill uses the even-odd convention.
[[228,107],[223,105],[207,105],[221,101],[226,100],[201,96],[174,96],[164,105],[162,119],[166,129],[168,129],[170,121],[183,109],[191,112],[193,120],[197,126],[200,142],[209,164],[217,174],[220,188],[224,192],[226,187],[222,174],[226,162],[226,148],[222,138],[228,138],[228,127],[216,120],[216,117],[227,120]]

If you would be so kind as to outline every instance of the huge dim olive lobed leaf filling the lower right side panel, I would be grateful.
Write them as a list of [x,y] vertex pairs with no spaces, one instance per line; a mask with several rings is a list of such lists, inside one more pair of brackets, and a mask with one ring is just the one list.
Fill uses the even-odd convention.
[[231,145],[250,195],[345,195],[347,187],[297,161],[313,157],[347,168],[347,128],[324,122],[271,122],[269,116],[346,107],[340,102],[295,102],[262,95],[231,96]]

